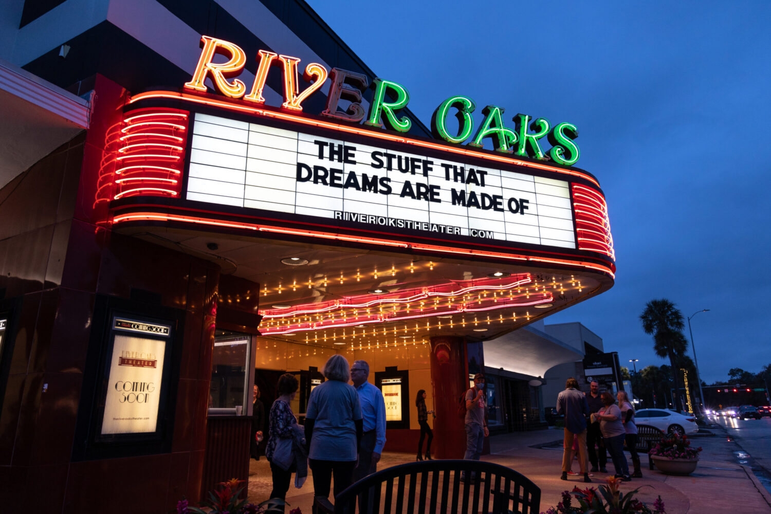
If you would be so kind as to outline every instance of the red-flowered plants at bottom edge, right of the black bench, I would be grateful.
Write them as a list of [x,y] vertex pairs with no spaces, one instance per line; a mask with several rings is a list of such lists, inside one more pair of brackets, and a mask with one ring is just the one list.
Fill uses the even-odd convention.
[[607,480],[608,485],[600,485],[599,490],[574,487],[572,492],[562,492],[562,501],[541,514],[666,514],[661,496],[655,499],[651,509],[634,497],[639,487],[624,494],[620,489],[621,479],[609,476]]

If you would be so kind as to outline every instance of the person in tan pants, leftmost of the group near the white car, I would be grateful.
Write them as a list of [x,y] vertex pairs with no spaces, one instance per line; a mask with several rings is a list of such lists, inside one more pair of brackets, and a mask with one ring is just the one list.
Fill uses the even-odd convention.
[[565,416],[564,452],[562,454],[562,475],[560,479],[567,480],[567,472],[571,469],[573,459],[574,439],[578,446],[578,465],[584,482],[591,482],[586,471],[586,417],[589,415],[589,404],[585,395],[578,391],[578,381],[571,377],[565,382],[565,390],[557,395],[557,412]]

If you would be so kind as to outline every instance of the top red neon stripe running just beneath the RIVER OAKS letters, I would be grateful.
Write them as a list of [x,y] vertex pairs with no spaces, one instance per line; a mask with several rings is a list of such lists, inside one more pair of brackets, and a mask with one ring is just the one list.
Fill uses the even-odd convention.
[[348,125],[341,125],[338,123],[325,122],[325,121],[316,120],[316,119],[308,119],[303,116],[297,116],[295,114],[282,113],[280,111],[272,111],[268,109],[260,109],[258,107],[245,106],[237,103],[226,102],[224,100],[207,99],[207,98],[190,95],[188,93],[183,93],[183,92],[171,92],[171,91],[142,92],[132,96],[131,99],[129,100],[129,103],[131,104],[134,102],[139,102],[140,100],[152,99],[152,98],[183,99],[187,102],[194,102],[194,103],[200,103],[207,106],[220,107],[222,109],[241,111],[243,113],[250,113],[257,116],[264,116],[266,118],[283,119],[285,121],[301,123],[303,125],[318,126],[325,129],[337,130],[338,132],[352,133],[358,136],[367,136],[367,137],[373,137],[376,139],[386,139],[386,140],[395,141],[398,143],[406,143],[412,146],[419,146],[419,147],[430,148],[430,149],[439,149],[444,152],[456,153],[458,155],[463,155],[463,156],[476,157],[483,160],[493,160],[500,163],[515,164],[517,166],[527,166],[530,168],[536,168],[538,170],[546,170],[554,173],[561,173],[564,175],[578,176],[584,180],[588,180],[589,182],[594,183],[598,187],[600,186],[600,183],[598,183],[598,181],[595,180],[594,177],[588,175],[587,173],[581,173],[579,171],[564,170],[563,168],[548,166],[546,164],[531,163],[530,161],[513,159],[507,156],[497,156],[493,154],[478,152],[472,149],[460,148],[456,146],[446,146],[446,145],[441,145],[439,143],[431,143],[429,141],[412,139],[406,136],[396,136],[388,133],[378,133],[378,132],[373,132],[372,130],[363,129],[358,126],[348,126]]

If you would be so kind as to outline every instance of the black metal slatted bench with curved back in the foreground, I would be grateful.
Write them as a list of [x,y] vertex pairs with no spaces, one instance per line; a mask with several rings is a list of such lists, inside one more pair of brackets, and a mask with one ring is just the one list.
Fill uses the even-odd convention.
[[357,504],[361,514],[538,514],[540,488],[493,462],[432,460],[396,465],[359,480],[335,498],[335,514],[355,514]]

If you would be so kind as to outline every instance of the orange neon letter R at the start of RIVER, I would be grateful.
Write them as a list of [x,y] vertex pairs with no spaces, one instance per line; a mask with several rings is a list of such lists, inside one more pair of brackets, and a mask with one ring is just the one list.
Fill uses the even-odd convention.
[[[227,42],[224,39],[210,38],[208,35],[202,35],[200,46],[203,49],[200,52],[198,66],[195,69],[193,78],[190,82],[185,82],[185,87],[196,89],[197,91],[207,91],[204,84],[207,75],[211,72],[211,79],[214,80],[214,86],[224,95],[231,98],[241,98],[246,92],[246,86],[241,80],[234,79],[233,82],[227,82],[227,79],[237,76],[244,69],[246,64],[246,54],[237,45]],[[230,59],[222,64],[211,62],[214,55],[219,53],[230,55]]]

